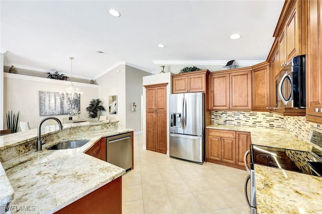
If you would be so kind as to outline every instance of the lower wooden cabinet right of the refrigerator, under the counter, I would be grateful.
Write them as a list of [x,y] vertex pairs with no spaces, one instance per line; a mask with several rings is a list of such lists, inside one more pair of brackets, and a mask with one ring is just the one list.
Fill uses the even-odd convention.
[[249,132],[206,129],[206,161],[245,169],[244,155],[250,144]]

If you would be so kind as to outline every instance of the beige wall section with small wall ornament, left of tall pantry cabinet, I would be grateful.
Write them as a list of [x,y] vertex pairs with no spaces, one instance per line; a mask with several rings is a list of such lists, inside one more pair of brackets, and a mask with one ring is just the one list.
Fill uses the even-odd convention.
[[[126,128],[141,131],[141,95],[143,94],[143,76],[150,73],[126,65]],[[132,112],[132,102],[136,104],[136,112]]]

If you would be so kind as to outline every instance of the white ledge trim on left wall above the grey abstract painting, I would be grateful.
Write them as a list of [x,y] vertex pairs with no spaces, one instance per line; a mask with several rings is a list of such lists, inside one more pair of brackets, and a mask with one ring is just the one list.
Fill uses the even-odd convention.
[[[57,79],[43,78],[38,76],[28,76],[28,75],[7,73],[7,72],[4,72],[4,78],[23,79],[23,80],[30,80],[30,81],[37,81],[37,82],[49,82],[49,83],[70,85],[70,81],[66,81],[66,80],[57,80]],[[74,86],[99,88],[99,85],[96,85],[96,84],[89,84],[89,83],[83,83],[83,82],[72,82],[72,83]]]

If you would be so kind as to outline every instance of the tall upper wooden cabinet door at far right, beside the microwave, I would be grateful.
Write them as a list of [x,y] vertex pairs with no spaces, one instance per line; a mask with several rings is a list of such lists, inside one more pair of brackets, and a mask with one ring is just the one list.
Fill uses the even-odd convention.
[[[306,114],[322,117],[322,22],[321,1],[309,1],[309,37],[308,37],[308,71],[307,71],[307,106]],[[318,113],[314,109],[318,109]],[[308,117],[306,117],[308,119]]]

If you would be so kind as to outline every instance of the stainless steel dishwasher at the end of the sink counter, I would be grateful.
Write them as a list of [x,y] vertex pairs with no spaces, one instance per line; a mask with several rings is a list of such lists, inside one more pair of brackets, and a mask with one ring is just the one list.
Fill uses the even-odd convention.
[[107,162],[125,170],[132,167],[132,132],[106,138]]

